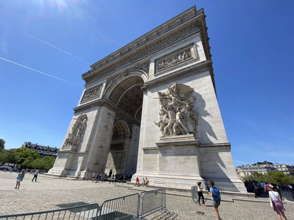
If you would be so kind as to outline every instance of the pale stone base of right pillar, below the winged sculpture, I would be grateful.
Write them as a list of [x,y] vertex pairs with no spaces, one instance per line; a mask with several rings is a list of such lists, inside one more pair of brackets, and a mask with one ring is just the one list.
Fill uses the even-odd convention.
[[152,187],[185,192],[200,181],[210,188],[208,182],[213,180],[221,191],[248,197],[244,183],[236,177],[230,143],[201,145],[188,134],[161,137],[156,146],[152,150],[158,150],[159,172],[137,172],[132,182],[147,177]]

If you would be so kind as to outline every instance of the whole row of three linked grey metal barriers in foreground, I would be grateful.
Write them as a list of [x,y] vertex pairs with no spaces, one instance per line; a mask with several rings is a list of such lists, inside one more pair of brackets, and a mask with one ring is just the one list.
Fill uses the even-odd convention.
[[26,214],[5,215],[0,219],[5,220],[75,220],[75,219],[143,219],[157,211],[166,211],[166,192],[164,189],[157,189],[123,196],[104,201],[99,207],[98,204],[87,204],[77,207],[41,211]]

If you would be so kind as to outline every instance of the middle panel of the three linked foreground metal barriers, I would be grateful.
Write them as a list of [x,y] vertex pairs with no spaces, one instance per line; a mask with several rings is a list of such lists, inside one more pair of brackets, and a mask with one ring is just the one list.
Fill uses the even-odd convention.
[[109,199],[100,207],[99,219],[137,219],[139,194]]

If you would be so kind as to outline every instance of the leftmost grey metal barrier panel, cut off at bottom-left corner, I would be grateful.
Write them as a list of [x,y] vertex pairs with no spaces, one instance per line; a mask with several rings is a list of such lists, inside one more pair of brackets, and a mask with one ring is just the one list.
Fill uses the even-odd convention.
[[98,216],[99,206],[98,204],[87,204],[77,207],[70,207],[64,209],[56,209],[51,211],[40,211],[25,214],[16,215],[4,215],[0,216],[0,219],[30,219],[30,220],[59,220],[59,219],[93,219],[96,220]]

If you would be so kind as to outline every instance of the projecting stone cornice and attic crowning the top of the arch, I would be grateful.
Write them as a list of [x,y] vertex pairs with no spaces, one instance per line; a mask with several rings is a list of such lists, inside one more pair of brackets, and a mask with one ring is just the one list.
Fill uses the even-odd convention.
[[[164,41],[169,41],[176,35],[184,33],[193,27],[200,28],[199,31],[202,33],[201,35],[203,35],[201,38],[204,45],[204,51],[206,53],[206,57],[209,59],[210,51],[208,46],[208,38],[206,37],[207,31],[204,10],[200,9],[196,11],[196,7],[193,6],[178,16],[170,19],[166,23],[163,23],[157,28],[154,28],[152,31],[149,31],[145,35],[129,43],[125,47],[91,65],[92,69],[84,73],[82,75],[82,79],[86,81],[86,84],[88,84],[101,79],[102,77],[107,76],[112,72],[118,71],[133,64],[135,65],[139,60],[144,60],[149,55],[157,52],[152,48],[158,47],[158,45]],[[187,37],[188,36],[185,35],[184,38]],[[158,50],[162,50],[163,48],[164,47],[160,47]],[[146,53],[146,55],[140,55],[142,53]]]

